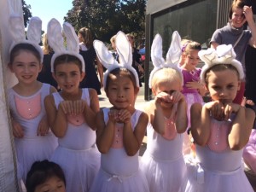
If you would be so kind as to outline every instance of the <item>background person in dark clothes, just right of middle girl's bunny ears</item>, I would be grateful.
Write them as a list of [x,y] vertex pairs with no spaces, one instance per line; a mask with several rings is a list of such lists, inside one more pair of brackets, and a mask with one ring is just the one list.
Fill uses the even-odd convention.
[[[137,75],[140,77],[141,73],[143,73],[143,67],[141,66],[141,55],[139,54],[139,50],[135,47],[134,44],[134,36],[131,33],[126,34],[132,49],[132,67],[135,68]],[[140,87],[143,86],[141,79],[139,79]]]

